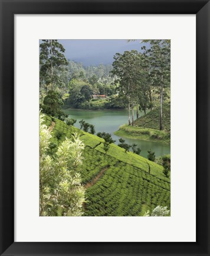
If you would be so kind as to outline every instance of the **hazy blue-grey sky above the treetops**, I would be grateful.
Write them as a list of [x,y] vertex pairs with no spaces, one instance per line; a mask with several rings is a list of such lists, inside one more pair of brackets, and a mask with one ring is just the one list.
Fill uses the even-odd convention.
[[113,63],[113,56],[125,50],[141,52],[140,40],[127,42],[122,40],[58,40],[65,48],[65,57],[84,66]]

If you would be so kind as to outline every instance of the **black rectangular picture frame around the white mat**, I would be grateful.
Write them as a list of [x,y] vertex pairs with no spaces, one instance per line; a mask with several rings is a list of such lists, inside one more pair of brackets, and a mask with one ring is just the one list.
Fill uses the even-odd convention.
[[[206,0],[0,0],[1,255],[210,255],[209,24]],[[14,15],[196,14],[196,242],[14,242]],[[189,213],[190,214],[190,213]],[[184,227],[182,227],[184,228]],[[180,230],[182,232],[182,230]]]

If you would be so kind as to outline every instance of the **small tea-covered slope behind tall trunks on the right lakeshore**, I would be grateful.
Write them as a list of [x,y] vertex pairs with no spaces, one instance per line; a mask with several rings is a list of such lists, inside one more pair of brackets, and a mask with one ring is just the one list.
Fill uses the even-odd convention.
[[[163,129],[170,131],[170,101],[163,103]],[[134,125],[159,130],[160,128],[160,107],[154,108],[145,116],[134,121]]]

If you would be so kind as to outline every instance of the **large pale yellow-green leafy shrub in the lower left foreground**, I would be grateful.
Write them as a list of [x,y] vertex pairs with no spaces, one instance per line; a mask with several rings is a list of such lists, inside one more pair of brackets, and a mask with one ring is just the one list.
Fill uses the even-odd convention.
[[85,190],[79,171],[84,143],[74,133],[50,154],[53,126],[47,127],[40,115],[40,216],[81,216]]

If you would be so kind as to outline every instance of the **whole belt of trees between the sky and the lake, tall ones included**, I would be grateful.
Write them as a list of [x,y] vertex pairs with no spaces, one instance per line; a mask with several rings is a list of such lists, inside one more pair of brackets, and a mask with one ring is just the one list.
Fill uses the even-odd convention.
[[[40,44],[40,103],[49,98],[48,90],[57,91],[64,107],[129,109],[129,125],[139,110],[159,106],[159,128],[165,122],[163,101],[170,97],[170,40],[143,40],[142,52],[116,53],[112,65],[88,66],[65,59],[64,47],[57,40]],[[49,102],[49,101],[48,101]],[[46,106],[45,106],[46,105]],[[45,101],[43,111],[53,115]],[[59,104],[58,104],[59,105]],[[130,116],[132,111],[132,116]],[[60,109],[58,108],[58,112]],[[56,116],[60,118],[59,116]]]

